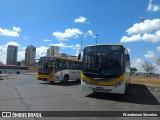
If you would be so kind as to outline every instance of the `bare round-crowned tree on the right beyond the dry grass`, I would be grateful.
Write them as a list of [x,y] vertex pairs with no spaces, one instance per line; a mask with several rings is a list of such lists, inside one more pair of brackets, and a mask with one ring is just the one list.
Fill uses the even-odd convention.
[[143,70],[147,73],[147,77],[149,73],[153,73],[155,70],[155,66],[152,63],[145,61],[142,65]]

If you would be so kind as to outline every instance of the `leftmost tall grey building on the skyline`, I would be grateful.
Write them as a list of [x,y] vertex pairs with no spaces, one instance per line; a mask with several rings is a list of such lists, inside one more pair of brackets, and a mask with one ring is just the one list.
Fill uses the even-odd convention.
[[7,65],[16,65],[17,64],[17,53],[18,46],[8,45],[7,48]]

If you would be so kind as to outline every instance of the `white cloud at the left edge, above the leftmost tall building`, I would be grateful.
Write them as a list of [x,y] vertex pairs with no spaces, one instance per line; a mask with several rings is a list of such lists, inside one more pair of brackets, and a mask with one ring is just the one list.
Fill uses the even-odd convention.
[[11,36],[11,37],[19,37],[19,33],[21,28],[13,27],[12,30],[2,29],[0,28],[0,36]]

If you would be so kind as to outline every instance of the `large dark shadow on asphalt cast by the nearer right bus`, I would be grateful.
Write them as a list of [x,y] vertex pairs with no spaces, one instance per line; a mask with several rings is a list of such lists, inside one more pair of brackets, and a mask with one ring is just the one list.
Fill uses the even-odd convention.
[[152,95],[145,85],[130,84],[125,95],[110,93],[92,93],[86,97],[113,100],[127,103],[160,105],[159,101]]

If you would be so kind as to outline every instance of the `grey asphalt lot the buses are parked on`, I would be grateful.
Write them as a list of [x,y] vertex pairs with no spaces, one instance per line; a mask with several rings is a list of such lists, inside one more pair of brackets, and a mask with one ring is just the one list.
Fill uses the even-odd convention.
[[[67,84],[49,84],[36,80],[35,74],[1,74],[0,111],[160,111],[160,88],[131,84],[126,95],[93,94],[82,91],[80,82],[70,81]],[[17,118],[0,118],[15,119]],[[31,119],[31,118],[18,118]],[[32,118],[45,120],[53,118]],[[32,120],[31,119],[31,120]],[[84,117],[67,117],[54,119],[86,119]],[[88,117],[106,119],[104,117]],[[117,118],[114,119],[126,119]],[[130,118],[136,119],[137,118]],[[148,119],[151,118],[143,118]],[[158,118],[152,118],[158,119]]]

